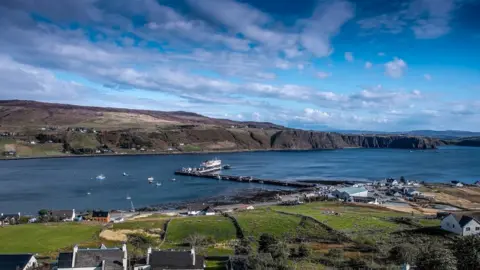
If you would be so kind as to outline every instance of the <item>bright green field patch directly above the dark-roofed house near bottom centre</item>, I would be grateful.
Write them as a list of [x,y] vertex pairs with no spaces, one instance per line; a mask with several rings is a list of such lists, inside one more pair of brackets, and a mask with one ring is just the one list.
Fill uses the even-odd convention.
[[175,218],[168,225],[166,241],[169,244],[183,244],[189,235],[200,234],[223,242],[235,239],[236,233],[232,221],[223,216]]

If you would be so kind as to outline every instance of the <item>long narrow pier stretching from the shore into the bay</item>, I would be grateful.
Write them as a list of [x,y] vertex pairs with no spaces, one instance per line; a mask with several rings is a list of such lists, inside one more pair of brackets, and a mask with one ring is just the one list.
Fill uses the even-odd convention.
[[235,182],[257,183],[257,184],[296,187],[296,188],[315,187],[315,184],[312,184],[312,183],[288,182],[288,181],[273,180],[273,179],[260,179],[255,177],[222,175],[222,174],[216,174],[216,173],[200,173],[200,172],[188,172],[188,171],[179,170],[179,171],[176,171],[175,174],[192,176],[192,177],[210,178],[215,180],[227,180],[227,181],[235,181]]

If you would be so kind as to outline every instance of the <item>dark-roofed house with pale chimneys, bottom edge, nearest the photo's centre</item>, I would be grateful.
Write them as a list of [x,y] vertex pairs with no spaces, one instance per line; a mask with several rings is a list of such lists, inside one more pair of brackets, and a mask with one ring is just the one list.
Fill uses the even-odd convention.
[[187,251],[148,248],[146,264],[134,267],[134,270],[163,269],[205,269],[205,259],[195,254],[194,248]]

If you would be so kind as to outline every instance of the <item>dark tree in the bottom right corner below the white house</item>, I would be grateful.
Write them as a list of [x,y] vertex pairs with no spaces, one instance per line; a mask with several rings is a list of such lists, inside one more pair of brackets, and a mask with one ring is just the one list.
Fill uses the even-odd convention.
[[459,238],[453,246],[458,269],[480,269],[480,236],[470,235]]

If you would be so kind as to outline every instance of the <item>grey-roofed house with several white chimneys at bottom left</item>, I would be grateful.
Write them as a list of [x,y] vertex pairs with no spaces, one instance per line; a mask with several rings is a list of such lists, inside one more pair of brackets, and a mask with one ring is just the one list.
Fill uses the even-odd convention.
[[128,256],[127,245],[121,248],[80,249],[77,245],[72,252],[62,252],[58,255],[57,269],[82,269],[82,270],[127,270]]

